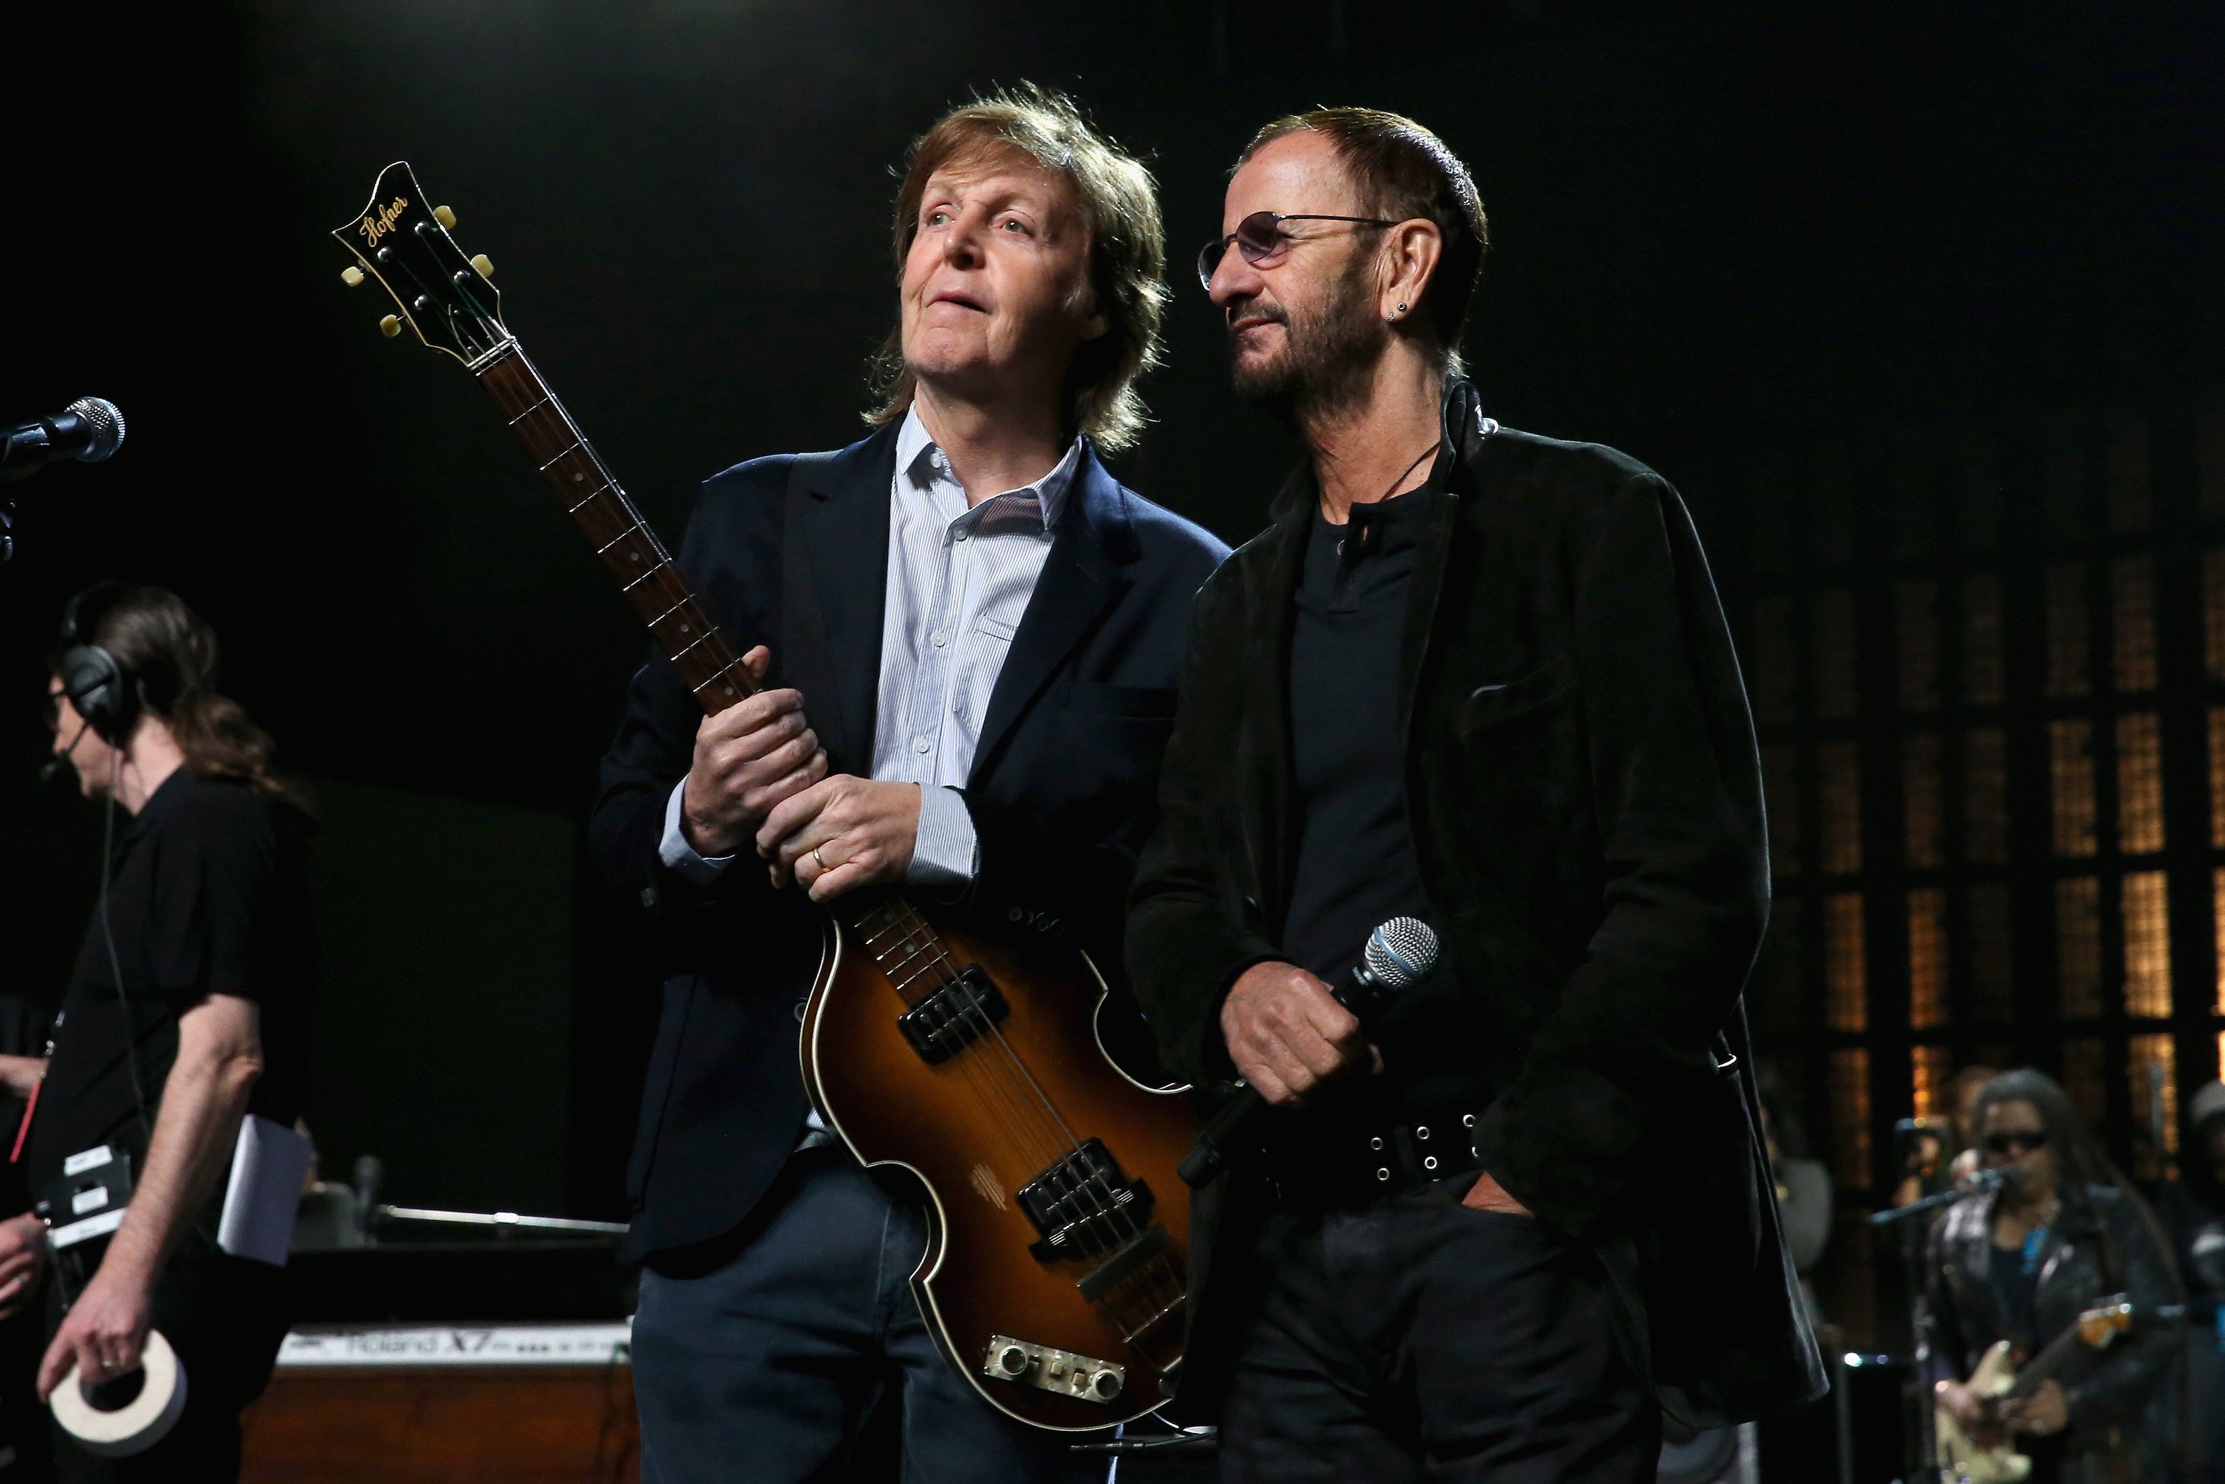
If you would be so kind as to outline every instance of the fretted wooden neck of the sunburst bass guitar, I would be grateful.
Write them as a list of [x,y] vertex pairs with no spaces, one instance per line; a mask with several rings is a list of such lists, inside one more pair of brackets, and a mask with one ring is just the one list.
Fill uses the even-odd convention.
[[[525,352],[512,343],[478,369],[478,380],[703,712],[716,716],[754,696],[759,687],[741,654]],[[934,930],[903,894],[852,892],[832,910],[906,999],[914,999],[914,986],[923,986],[923,999],[957,977]]]

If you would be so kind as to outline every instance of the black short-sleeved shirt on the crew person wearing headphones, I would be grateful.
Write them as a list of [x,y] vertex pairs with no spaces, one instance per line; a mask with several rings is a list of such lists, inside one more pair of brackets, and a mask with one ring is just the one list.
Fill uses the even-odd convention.
[[[245,783],[180,768],[138,817],[118,825],[107,917],[149,1126],[178,1057],[178,1017],[209,995],[238,995],[260,1008],[263,1077],[249,1112],[291,1126],[307,1072],[316,968],[309,819]],[[24,1161],[33,1199],[78,1150],[125,1148],[134,1177],[145,1164],[125,1015],[96,906],[31,1117]]]

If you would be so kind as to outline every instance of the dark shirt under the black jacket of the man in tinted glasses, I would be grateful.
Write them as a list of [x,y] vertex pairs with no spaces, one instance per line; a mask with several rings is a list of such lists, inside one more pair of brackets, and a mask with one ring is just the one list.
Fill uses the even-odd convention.
[[[1442,928],[1406,819],[1397,676],[1422,538],[1455,467],[1440,452],[1420,489],[1353,505],[1348,525],[1317,514],[1306,543],[1290,625],[1297,857],[1282,950],[1331,983],[1359,963],[1380,923],[1420,917]],[[1408,1121],[1489,1106],[1475,1070],[1489,1028],[1451,966],[1404,990],[1368,1035],[1384,1077],[1344,1081],[1317,1099],[1322,1117]]]

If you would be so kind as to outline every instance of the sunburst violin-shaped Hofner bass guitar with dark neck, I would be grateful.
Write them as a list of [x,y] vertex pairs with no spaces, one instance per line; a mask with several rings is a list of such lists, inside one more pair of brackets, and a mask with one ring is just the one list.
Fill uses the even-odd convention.
[[[356,256],[340,278],[394,296],[387,336],[409,327],[478,376],[703,710],[736,705],[756,687],[734,645],[503,327],[494,265],[454,225],[389,165],[334,231]],[[1164,1406],[1181,1364],[1190,1106],[1104,1055],[1104,995],[1079,952],[977,941],[901,892],[852,892],[803,1012],[821,1117],[926,1186],[928,1328],[997,1408],[1057,1431]]]

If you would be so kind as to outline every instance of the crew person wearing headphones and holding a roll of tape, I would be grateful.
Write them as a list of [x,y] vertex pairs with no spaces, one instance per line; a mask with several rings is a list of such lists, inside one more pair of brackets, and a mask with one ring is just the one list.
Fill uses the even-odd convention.
[[216,690],[216,632],[176,594],[78,594],[49,670],[56,768],[105,805],[107,861],[16,1139],[44,1230],[0,1226],[0,1273],[51,1248],[40,1399],[71,1368],[129,1382],[149,1328],[189,1379],[182,1415],[131,1457],[58,1426],[62,1480],[236,1480],[240,1411],[287,1330],[274,1224],[291,1201],[263,1201],[258,1230],[236,1215],[256,1181],[227,1170],[300,1115],[312,825],[269,772],[269,734]]

